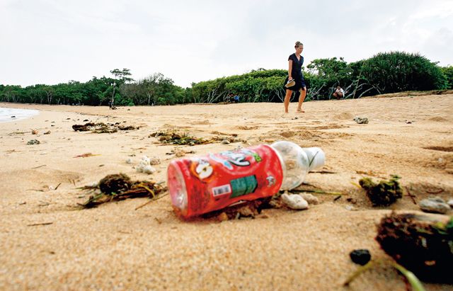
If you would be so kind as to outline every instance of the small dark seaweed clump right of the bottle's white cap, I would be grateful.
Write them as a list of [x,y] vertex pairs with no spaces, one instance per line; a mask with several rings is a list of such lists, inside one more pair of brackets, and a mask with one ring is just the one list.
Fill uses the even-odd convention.
[[359,184],[367,192],[373,206],[389,206],[403,197],[403,188],[399,184],[401,177],[392,175],[389,181],[374,183],[371,178],[361,178]]

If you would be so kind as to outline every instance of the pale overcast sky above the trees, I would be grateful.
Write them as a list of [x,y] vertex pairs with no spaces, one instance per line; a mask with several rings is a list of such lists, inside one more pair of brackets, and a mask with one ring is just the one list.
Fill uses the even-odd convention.
[[86,82],[127,68],[178,86],[313,59],[419,52],[453,64],[453,0],[0,0],[0,84]]

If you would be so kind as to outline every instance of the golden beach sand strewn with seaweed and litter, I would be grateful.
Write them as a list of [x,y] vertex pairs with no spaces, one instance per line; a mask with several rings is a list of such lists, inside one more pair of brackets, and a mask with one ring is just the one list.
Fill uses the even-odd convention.
[[[304,104],[303,114],[292,103],[287,115],[278,103],[0,107],[40,110],[0,123],[0,290],[406,290],[389,266],[342,287],[357,269],[350,251],[387,257],[374,240],[384,215],[419,211],[408,195],[391,207],[372,207],[354,183],[396,173],[416,201],[430,193],[453,198],[453,95],[315,101]],[[355,116],[369,124],[355,123]],[[112,134],[71,128],[88,121],[140,128]],[[196,137],[235,133],[246,142],[177,147],[149,137],[173,127]],[[27,145],[30,139],[40,144]],[[184,222],[168,195],[139,210],[147,198],[75,207],[87,199],[77,187],[110,173],[166,181],[176,148],[196,156],[277,140],[321,147],[323,171],[333,173],[309,173],[306,183],[343,196],[317,194],[321,202],[309,210],[263,210],[256,219],[226,222]],[[94,156],[75,157],[86,153]],[[161,159],[156,173],[134,170],[144,155]]]

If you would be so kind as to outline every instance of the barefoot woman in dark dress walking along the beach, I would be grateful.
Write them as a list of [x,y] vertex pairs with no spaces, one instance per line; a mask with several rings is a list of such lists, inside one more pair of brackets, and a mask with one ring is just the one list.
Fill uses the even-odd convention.
[[285,113],[288,113],[289,100],[291,99],[292,92],[300,92],[299,103],[297,104],[297,112],[305,112],[302,109],[302,103],[306,96],[306,85],[304,76],[302,75],[302,64],[304,64],[304,57],[302,57],[302,50],[304,45],[302,42],[297,41],[294,45],[296,52],[288,57],[288,76],[285,79]]

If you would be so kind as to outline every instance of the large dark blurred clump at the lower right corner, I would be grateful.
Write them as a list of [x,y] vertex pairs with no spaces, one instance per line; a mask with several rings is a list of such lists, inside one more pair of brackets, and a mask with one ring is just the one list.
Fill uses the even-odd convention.
[[453,283],[453,217],[391,213],[378,225],[376,240],[421,280]]

